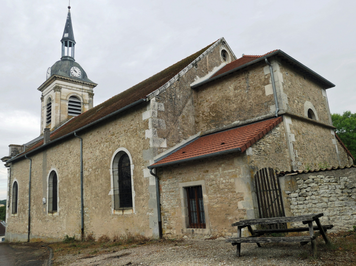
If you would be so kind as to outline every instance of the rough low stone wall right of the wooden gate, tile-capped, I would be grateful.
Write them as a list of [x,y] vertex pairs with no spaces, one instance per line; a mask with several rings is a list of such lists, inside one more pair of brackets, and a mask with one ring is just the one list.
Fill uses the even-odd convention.
[[[320,171],[280,177],[286,200],[294,215],[324,213],[322,224],[330,232],[353,230],[356,225],[356,168]],[[298,226],[292,224],[292,227]],[[329,231],[329,230],[328,230]]]

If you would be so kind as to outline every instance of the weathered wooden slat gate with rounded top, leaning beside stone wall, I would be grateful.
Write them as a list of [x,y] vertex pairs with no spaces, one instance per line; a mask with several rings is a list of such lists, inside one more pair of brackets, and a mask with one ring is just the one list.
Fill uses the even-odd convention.
[[[279,179],[272,168],[263,168],[255,175],[260,218],[285,217]],[[287,224],[266,225],[269,229],[287,228]]]

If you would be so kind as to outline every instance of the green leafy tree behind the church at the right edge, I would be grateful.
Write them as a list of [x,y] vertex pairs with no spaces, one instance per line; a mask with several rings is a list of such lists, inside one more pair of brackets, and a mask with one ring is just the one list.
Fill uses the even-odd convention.
[[356,113],[345,111],[342,115],[332,114],[333,124],[336,127],[336,134],[344,142],[345,146],[356,156]]

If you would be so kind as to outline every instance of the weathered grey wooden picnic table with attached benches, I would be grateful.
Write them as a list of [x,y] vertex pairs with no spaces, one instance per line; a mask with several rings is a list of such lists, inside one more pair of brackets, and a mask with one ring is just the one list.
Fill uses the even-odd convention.
[[[323,213],[298,215],[291,217],[275,217],[275,218],[262,218],[262,219],[250,219],[240,220],[233,223],[232,226],[237,226],[237,237],[231,237],[226,239],[226,242],[231,242],[233,246],[237,248],[237,257],[240,256],[241,243],[257,243],[258,247],[261,247],[259,243],[271,243],[271,242],[300,242],[301,245],[305,245],[309,242],[312,244],[313,257],[316,258],[316,242],[315,239],[320,234],[324,238],[326,244],[329,244],[329,240],[325,234],[328,229],[332,229],[333,225],[322,226],[319,217],[323,216]],[[289,229],[265,229],[265,230],[253,230],[252,225],[268,225],[278,223],[291,223],[302,222],[308,224],[305,228],[289,228]],[[316,222],[316,226],[313,226],[313,222]],[[241,229],[247,227],[251,236],[241,237]],[[266,233],[285,233],[285,232],[301,232],[309,231],[309,236],[296,236],[296,237],[259,237]],[[314,231],[317,231],[314,233]]]

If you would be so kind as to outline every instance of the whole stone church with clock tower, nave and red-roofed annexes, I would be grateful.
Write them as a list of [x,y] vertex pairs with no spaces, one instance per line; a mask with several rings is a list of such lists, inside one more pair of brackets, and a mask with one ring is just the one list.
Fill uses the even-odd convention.
[[229,234],[258,218],[258,169],[353,162],[331,120],[335,85],[281,50],[237,58],[220,38],[94,106],[70,10],[61,44],[38,88],[40,137],[2,158],[9,241]]

